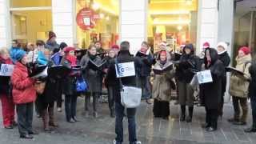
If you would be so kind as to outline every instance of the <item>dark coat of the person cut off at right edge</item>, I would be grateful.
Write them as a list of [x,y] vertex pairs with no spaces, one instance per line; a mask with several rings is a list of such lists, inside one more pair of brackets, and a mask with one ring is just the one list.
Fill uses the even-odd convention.
[[252,62],[249,68],[249,73],[251,77],[250,85],[249,85],[249,97],[256,98],[256,62]]

